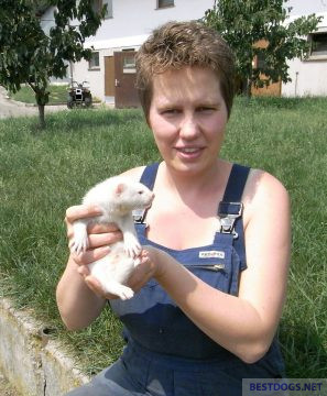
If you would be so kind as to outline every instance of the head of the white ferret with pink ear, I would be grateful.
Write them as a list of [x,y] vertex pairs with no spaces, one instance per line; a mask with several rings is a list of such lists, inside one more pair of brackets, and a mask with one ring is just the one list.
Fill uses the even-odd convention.
[[121,211],[145,209],[154,198],[154,194],[148,187],[131,180],[119,180],[113,194],[115,201],[119,205]]

